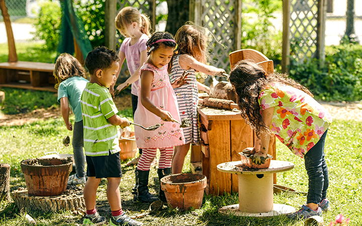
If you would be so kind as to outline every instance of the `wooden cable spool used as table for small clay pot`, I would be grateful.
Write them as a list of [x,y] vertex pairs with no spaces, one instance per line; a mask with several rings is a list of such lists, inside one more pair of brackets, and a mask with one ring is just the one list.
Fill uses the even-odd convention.
[[242,216],[275,216],[288,214],[295,208],[273,201],[273,173],[284,172],[294,168],[286,161],[271,160],[269,168],[245,169],[241,161],[219,164],[217,169],[239,177],[239,204],[221,207],[219,212]]

